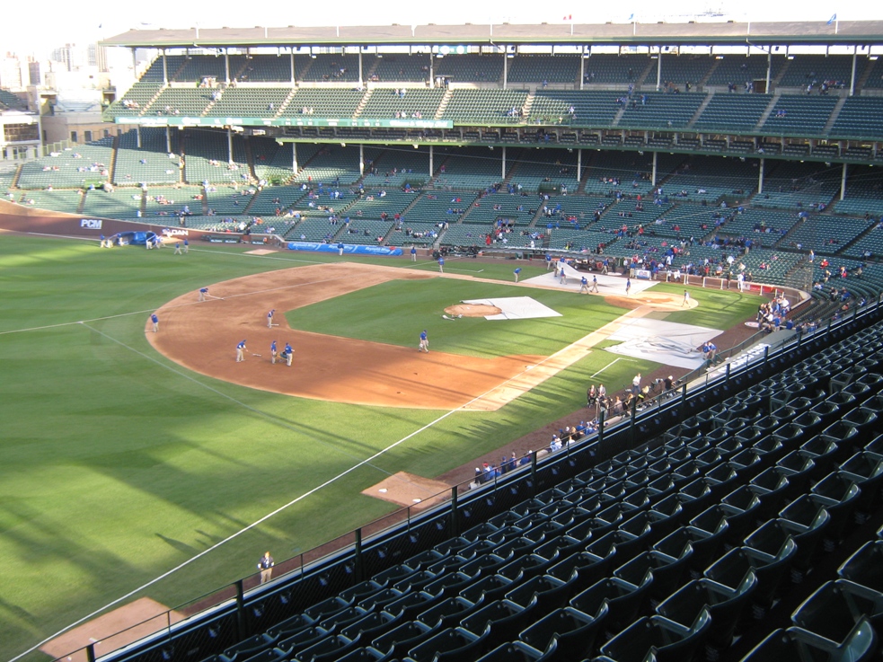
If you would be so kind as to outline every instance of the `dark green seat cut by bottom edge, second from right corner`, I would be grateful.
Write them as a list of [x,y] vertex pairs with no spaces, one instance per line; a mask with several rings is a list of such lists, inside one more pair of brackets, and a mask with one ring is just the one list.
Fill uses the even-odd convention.
[[688,660],[710,626],[711,617],[705,610],[690,627],[662,616],[645,616],[605,643],[601,654],[616,662],[644,662],[648,653],[656,662]]

